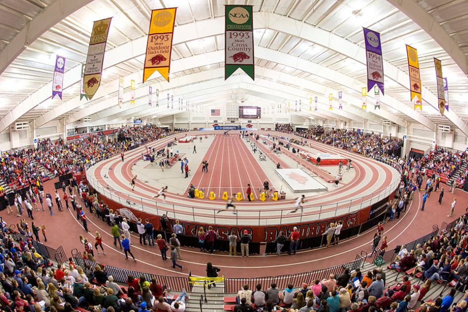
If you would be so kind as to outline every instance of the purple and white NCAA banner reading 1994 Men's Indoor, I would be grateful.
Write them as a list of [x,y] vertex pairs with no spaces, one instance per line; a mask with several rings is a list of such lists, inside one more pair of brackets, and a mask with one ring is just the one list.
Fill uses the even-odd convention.
[[367,59],[367,90],[377,85],[383,95],[383,57],[380,34],[364,27],[363,29]]

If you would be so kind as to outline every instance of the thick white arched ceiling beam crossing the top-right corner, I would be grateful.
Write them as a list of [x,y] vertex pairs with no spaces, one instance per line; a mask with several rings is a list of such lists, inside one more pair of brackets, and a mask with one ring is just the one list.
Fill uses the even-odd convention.
[[387,0],[396,8],[406,14],[419,27],[449,54],[465,75],[468,75],[468,57],[462,51],[455,39],[416,1]]

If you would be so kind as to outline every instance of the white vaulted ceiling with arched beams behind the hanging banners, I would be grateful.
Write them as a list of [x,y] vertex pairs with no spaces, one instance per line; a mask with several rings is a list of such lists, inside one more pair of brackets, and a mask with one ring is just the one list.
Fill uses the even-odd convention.
[[[254,5],[255,81],[243,73],[223,79],[224,4],[233,3]],[[172,6],[178,9],[170,83],[156,73],[142,84],[151,10]],[[103,82],[93,101],[80,101],[81,63],[92,22],[110,16]],[[196,105],[226,103],[235,94],[271,104],[302,99],[302,116],[418,122],[431,130],[445,124],[468,135],[466,0],[3,0],[0,17],[0,131],[15,121],[39,127],[88,115],[103,123],[152,116],[156,108],[144,105],[143,97],[153,85],[162,95]],[[367,111],[360,105],[366,86],[362,27],[381,33],[385,96],[380,110],[373,109],[371,98]],[[422,112],[410,103],[405,44],[418,50]],[[51,99],[55,54],[66,57],[62,101]],[[436,109],[433,57],[442,61],[448,78],[445,116]],[[137,82],[137,105],[118,108],[120,75],[125,100],[130,80]],[[330,112],[328,94],[337,97],[339,91],[344,109]],[[369,95],[373,98],[373,92]],[[315,96],[319,110],[310,112],[307,99]],[[170,113],[158,109],[158,115]]]

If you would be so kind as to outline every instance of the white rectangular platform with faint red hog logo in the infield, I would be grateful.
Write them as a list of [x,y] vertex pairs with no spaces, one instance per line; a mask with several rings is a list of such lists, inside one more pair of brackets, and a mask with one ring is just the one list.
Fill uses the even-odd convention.
[[327,191],[323,185],[306,171],[298,168],[276,169],[276,174],[293,190],[293,193]]

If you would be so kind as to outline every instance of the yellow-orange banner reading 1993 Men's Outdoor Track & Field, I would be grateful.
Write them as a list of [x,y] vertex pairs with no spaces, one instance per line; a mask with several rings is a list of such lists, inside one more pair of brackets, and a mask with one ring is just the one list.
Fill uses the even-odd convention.
[[143,82],[157,70],[169,82],[176,7],[153,10],[146,45]]

